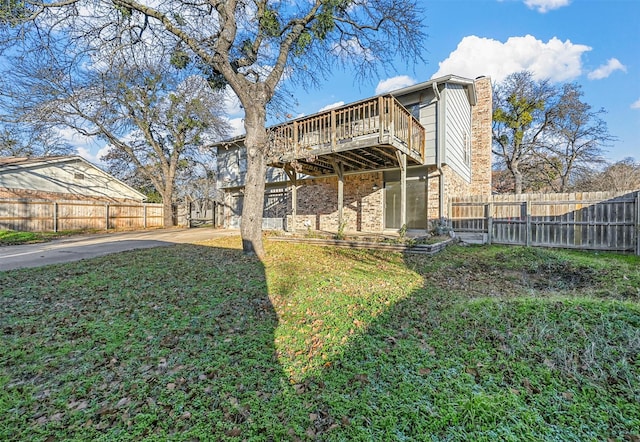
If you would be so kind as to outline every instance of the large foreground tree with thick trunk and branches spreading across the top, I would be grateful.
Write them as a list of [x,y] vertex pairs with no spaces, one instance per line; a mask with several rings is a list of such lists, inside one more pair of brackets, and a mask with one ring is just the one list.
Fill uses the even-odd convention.
[[[135,50],[176,67],[197,66],[211,84],[228,84],[244,111],[247,149],[243,248],[264,254],[262,208],[270,155],[267,105],[283,76],[316,84],[336,65],[356,79],[398,57],[419,60],[421,10],[415,0],[24,0],[21,36],[65,33],[76,48]],[[33,32],[54,29],[57,33]],[[14,34],[15,35],[15,34]],[[14,45],[13,50],[17,50]]]

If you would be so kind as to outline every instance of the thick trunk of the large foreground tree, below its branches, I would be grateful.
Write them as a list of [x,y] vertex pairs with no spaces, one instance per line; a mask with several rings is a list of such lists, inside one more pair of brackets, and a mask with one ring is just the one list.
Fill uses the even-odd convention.
[[262,258],[262,212],[264,208],[264,184],[267,173],[266,112],[263,109],[245,110],[245,146],[247,149],[247,174],[242,207],[242,250],[245,254]]

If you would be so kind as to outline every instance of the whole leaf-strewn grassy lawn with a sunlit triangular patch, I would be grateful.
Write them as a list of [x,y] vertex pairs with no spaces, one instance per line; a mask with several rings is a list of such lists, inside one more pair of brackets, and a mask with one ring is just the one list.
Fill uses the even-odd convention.
[[0,273],[0,440],[640,438],[640,259],[238,238]]

